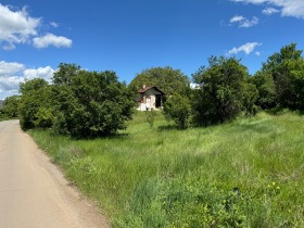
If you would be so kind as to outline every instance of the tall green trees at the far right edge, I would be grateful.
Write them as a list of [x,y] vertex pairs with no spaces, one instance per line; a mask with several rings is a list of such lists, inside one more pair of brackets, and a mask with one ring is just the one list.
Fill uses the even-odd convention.
[[296,43],[284,46],[271,54],[253,77],[262,107],[304,109],[304,59]]

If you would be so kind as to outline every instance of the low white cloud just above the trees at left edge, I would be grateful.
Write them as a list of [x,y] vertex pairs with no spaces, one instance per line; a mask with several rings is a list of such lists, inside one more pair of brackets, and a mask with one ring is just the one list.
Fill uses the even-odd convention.
[[50,66],[26,68],[22,63],[0,62],[0,99],[17,94],[24,79],[43,78],[50,81],[54,69]]

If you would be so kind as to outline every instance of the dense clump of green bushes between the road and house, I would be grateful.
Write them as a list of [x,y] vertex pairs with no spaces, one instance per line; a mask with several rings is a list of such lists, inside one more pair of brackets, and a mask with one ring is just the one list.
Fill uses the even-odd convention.
[[131,93],[114,72],[89,72],[75,64],[60,64],[51,85],[35,78],[22,83],[20,91],[23,129],[51,128],[76,138],[125,129],[134,106]]

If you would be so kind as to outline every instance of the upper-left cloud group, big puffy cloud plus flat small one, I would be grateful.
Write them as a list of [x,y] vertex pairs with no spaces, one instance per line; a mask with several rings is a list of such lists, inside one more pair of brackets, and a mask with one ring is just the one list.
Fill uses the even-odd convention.
[[[47,34],[41,37],[39,27],[42,25],[41,18],[31,17],[26,8],[14,10],[12,7],[0,3],[0,45],[5,51],[16,48],[16,45],[34,45],[35,48],[71,48],[72,40]],[[52,22],[51,26],[58,27],[59,24]]]

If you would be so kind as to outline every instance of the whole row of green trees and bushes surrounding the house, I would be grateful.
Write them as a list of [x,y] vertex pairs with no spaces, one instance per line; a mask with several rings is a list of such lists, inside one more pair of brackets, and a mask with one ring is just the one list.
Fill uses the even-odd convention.
[[254,75],[236,58],[211,56],[192,81],[195,89],[183,73],[167,66],[144,69],[127,86],[115,72],[62,63],[51,84],[41,78],[22,83],[21,96],[7,98],[1,112],[18,116],[23,129],[51,128],[81,138],[125,129],[142,85],[166,93],[164,114],[181,128],[219,124],[261,109],[304,109],[304,59],[295,43],[270,55]]

